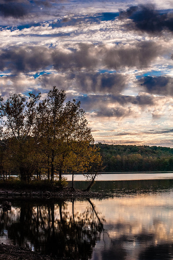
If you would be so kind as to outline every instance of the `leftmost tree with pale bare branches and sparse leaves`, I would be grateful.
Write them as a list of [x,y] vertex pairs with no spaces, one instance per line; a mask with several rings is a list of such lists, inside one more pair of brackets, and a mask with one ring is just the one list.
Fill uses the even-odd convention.
[[0,97],[0,122],[3,126],[1,144],[10,150],[23,181],[30,181],[33,173],[34,160],[33,157],[32,160],[30,158],[32,155],[34,158],[36,156],[31,146],[34,147],[36,143],[30,135],[36,116],[36,103],[40,97],[40,93],[29,93],[27,102],[26,97],[21,94],[10,94],[5,102]]

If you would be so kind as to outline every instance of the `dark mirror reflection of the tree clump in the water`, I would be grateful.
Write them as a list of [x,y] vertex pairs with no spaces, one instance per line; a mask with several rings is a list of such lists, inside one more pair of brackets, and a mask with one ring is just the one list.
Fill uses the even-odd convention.
[[1,234],[5,228],[14,244],[47,255],[89,259],[100,240],[104,219],[99,218],[91,200],[83,204],[84,210],[76,212],[75,200],[34,207],[24,202],[18,214],[9,217],[8,212],[1,216]]

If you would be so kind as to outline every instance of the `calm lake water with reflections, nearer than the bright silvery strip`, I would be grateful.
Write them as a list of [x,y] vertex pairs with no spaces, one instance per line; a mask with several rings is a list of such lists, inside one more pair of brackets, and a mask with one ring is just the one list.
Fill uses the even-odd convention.
[[173,179],[97,181],[93,190],[105,198],[12,201],[1,242],[76,259],[173,259]]

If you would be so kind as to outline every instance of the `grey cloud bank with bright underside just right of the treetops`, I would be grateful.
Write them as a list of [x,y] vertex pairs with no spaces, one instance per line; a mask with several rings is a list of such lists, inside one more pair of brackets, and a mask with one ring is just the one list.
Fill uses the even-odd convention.
[[[137,115],[136,106],[141,108],[153,106],[158,102],[159,97],[140,94],[137,96],[128,96],[122,94],[89,94],[87,96],[78,96],[77,101],[81,101],[81,107],[87,112],[94,112],[93,116],[98,117],[126,117]],[[135,106],[136,105],[136,106]]]

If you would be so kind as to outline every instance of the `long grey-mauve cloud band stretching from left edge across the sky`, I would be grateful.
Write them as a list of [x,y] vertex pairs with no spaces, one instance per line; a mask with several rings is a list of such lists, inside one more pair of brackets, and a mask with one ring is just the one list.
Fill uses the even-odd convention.
[[[114,45],[111,48],[107,45],[78,43],[70,50],[21,46],[0,51],[0,69],[8,68],[16,72],[28,72],[53,66],[56,70],[76,72],[82,69],[95,70],[97,66],[115,70],[125,66],[143,68],[148,66],[160,52],[161,46],[150,41],[143,41],[132,46]],[[102,77],[102,85],[107,83],[111,87],[113,77],[110,82],[108,77]],[[116,79],[120,81],[118,76]]]

